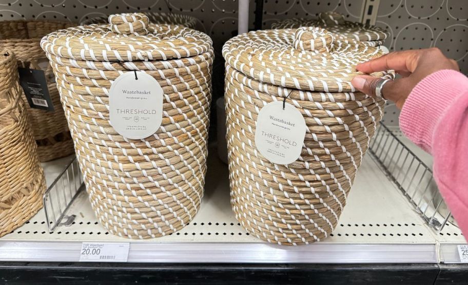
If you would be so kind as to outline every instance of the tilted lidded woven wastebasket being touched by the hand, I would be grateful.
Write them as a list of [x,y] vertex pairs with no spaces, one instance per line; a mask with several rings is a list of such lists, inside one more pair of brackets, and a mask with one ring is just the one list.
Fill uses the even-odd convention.
[[[249,32],[224,45],[231,204],[248,232],[297,245],[333,231],[384,107],[350,80],[357,63],[380,55],[321,28]],[[299,159],[279,165],[259,153],[255,131],[261,108],[284,97],[307,130]]]

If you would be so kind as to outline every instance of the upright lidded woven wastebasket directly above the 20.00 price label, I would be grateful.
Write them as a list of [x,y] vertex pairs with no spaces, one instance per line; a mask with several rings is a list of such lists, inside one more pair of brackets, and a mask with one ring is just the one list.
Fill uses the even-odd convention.
[[[164,236],[192,220],[203,196],[212,42],[181,26],[147,25],[140,13],[109,18],[111,25],[51,33],[41,46],[96,216],[119,236]],[[142,140],[122,137],[109,122],[109,89],[128,70],[150,74],[164,91],[161,127]]]

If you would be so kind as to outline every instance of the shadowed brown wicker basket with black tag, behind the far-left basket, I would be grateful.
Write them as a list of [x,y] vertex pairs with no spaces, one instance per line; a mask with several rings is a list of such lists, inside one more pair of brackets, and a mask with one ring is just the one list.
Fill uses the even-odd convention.
[[[13,51],[19,66],[44,69],[49,65],[46,54],[40,46],[41,37],[69,26],[70,23],[49,21],[3,21],[0,22],[0,48]],[[50,68],[45,71],[54,111],[30,108],[26,103],[37,143],[37,153],[41,161],[49,161],[73,153],[73,140],[61,108],[60,95],[53,80],[53,73]],[[27,102],[26,97],[23,99]]]

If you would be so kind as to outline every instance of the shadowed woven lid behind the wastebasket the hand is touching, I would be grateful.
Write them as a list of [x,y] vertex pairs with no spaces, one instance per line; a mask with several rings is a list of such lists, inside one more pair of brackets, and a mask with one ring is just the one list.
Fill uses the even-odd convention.
[[271,25],[272,29],[296,29],[300,27],[321,27],[334,35],[343,35],[372,47],[382,45],[388,36],[388,33],[379,27],[345,21],[344,16],[336,12],[320,13],[317,20],[293,18]]

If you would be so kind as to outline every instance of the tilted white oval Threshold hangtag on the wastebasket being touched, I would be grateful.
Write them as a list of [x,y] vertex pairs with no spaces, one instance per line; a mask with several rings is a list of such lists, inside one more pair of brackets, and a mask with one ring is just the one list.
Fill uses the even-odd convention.
[[301,112],[289,103],[265,105],[257,118],[255,145],[272,163],[289,164],[301,155],[306,125]]

